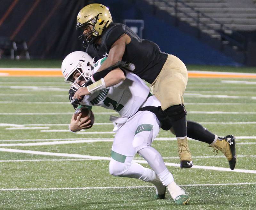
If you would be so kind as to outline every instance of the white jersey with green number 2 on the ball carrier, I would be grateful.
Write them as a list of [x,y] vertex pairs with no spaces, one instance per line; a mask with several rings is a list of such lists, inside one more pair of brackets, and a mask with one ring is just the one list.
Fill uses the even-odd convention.
[[[106,58],[98,60],[93,69],[93,74],[97,72]],[[115,110],[123,118],[130,118],[138,109],[145,105],[160,106],[160,102],[147,100],[150,89],[137,75],[126,72],[126,79],[117,85],[99,90],[88,96],[80,102],[81,105],[102,106],[107,109]],[[147,100],[147,103],[145,103]],[[149,104],[148,104],[149,103]]]

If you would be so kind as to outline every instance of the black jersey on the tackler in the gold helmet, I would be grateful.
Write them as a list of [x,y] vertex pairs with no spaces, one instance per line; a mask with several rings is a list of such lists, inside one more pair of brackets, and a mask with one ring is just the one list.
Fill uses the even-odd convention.
[[167,59],[167,54],[160,51],[158,45],[147,39],[140,39],[132,29],[124,24],[110,25],[102,33],[100,45],[89,44],[86,52],[97,60],[108,55],[114,42],[122,35],[131,37],[131,42],[126,45],[122,60],[135,65],[134,74],[141,79],[152,83],[160,73]]

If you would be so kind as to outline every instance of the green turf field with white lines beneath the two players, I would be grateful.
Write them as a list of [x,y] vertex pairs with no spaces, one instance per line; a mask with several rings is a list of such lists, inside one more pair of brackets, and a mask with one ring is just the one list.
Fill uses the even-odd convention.
[[256,209],[255,79],[189,79],[184,97],[187,119],[217,135],[236,136],[235,171],[221,152],[215,156],[195,140],[189,140],[194,167],[180,169],[174,136],[161,130],[153,142],[190,196],[187,206],[176,205],[169,193],[154,199],[150,183],[111,176],[115,134],[106,112],[112,111],[93,107],[95,125],[68,132],[74,112],[68,88],[57,77],[0,77],[0,209]]

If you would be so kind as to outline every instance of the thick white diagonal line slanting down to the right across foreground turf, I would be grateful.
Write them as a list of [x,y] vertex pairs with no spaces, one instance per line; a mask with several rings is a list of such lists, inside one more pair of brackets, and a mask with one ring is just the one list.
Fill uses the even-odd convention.
[[[17,149],[5,149],[0,148],[2,152],[17,152],[17,153],[26,153],[26,154],[36,154],[36,155],[50,155],[50,156],[59,156],[59,157],[73,157],[73,158],[88,158],[92,160],[110,160],[110,157],[101,157],[101,156],[90,156],[90,155],[80,155],[80,154],[69,154],[69,153],[55,153],[55,152],[41,152],[41,151],[31,151],[31,150],[17,150]],[[133,160],[137,163],[148,164],[146,160]],[[178,163],[165,163],[166,166],[180,167]],[[256,170],[246,170],[246,169],[234,169],[233,171],[230,168],[224,167],[212,167],[212,166],[197,166],[194,165],[192,169],[207,169],[215,171],[228,171],[228,172],[239,172],[239,173],[249,173],[256,174]]]

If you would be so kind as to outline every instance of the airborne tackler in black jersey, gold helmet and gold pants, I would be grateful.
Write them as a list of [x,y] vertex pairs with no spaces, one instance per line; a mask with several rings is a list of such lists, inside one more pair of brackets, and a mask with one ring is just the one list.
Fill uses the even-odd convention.
[[[161,102],[162,109],[171,120],[171,131],[178,141],[181,168],[193,166],[187,142],[187,129],[191,128],[193,132],[189,137],[221,150],[228,158],[230,168],[235,168],[235,138],[232,135],[220,138],[200,124],[186,121],[183,94],[188,72],[179,58],[160,51],[154,42],[140,39],[126,25],[113,23],[108,8],[102,4],[85,6],[77,15],[76,28],[82,30],[83,34],[78,38],[83,40],[86,52],[91,57],[96,60],[108,57],[98,72],[118,61],[126,61],[135,65],[134,74],[150,83],[153,95]],[[87,88],[80,88],[76,93],[79,96],[87,94]]]

